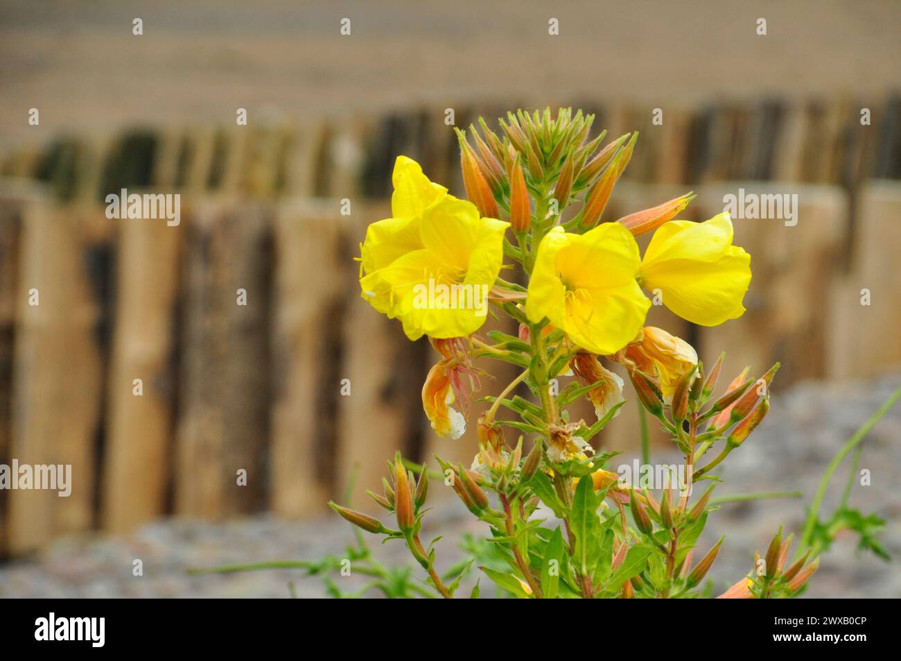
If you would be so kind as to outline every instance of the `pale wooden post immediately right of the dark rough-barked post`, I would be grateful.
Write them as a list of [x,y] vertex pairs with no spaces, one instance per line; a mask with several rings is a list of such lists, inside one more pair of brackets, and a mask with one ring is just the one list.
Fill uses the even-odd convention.
[[286,202],[275,222],[270,504],[285,517],[320,512],[332,495],[348,255],[324,206]]

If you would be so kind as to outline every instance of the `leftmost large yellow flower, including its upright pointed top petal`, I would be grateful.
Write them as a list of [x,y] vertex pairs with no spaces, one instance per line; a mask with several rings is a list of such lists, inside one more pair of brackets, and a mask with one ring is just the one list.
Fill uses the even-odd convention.
[[432,184],[398,158],[392,211],[369,225],[362,247],[362,297],[399,318],[411,340],[462,337],[487,318],[487,292],[504,259],[509,223],[482,218],[471,202]]

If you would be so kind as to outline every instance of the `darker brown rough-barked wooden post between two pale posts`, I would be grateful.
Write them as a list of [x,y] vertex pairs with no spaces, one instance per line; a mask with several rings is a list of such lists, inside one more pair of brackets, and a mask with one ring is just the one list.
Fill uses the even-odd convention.
[[[187,219],[175,509],[211,519],[259,510],[269,425],[270,216],[209,204]],[[183,219],[183,222],[186,222]],[[238,305],[238,289],[247,305]],[[241,469],[247,485],[238,484]]]

